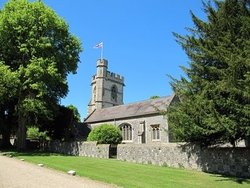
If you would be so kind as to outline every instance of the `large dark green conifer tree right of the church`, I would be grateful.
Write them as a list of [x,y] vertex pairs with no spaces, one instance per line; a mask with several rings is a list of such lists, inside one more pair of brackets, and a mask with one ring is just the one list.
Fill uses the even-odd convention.
[[250,3],[204,3],[205,21],[176,39],[190,59],[172,86],[179,103],[168,111],[178,139],[203,145],[235,143],[250,135]]

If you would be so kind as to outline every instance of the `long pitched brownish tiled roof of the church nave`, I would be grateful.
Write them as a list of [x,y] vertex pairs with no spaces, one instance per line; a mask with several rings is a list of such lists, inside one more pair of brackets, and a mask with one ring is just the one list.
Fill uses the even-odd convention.
[[159,110],[166,110],[173,98],[174,95],[171,95],[126,105],[97,109],[92,112],[92,114],[90,114],[84,122],[94,123],[114,119],[118,120],[143,115],[159,114]]

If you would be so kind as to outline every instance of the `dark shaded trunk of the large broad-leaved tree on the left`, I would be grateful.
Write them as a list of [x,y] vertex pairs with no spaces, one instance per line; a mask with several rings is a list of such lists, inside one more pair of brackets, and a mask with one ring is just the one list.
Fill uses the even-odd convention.
[[17,149],[26,149],[26,118],[19,112],[17,129]]

